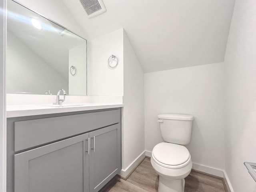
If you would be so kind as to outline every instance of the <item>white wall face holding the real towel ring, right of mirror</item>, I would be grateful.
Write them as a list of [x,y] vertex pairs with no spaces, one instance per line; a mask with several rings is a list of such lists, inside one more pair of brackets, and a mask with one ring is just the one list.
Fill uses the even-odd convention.
[[[90,40],[88,48],[88,95],[123,96],[123,29]],[[108,66],[111,54],[118,58],[115,68]]]

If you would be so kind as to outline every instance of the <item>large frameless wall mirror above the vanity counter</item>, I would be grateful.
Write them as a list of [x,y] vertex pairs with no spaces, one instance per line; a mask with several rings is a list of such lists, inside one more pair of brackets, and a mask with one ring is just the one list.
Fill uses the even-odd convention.
[[84,38],[7,1],[6,92],[86,95]]

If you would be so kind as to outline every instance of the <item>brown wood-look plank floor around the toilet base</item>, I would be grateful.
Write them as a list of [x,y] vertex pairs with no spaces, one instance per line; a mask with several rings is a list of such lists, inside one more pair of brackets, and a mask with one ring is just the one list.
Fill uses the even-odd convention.
[[[225,192],[221,178],[192,170],[185,178],[185,192]],[[127,180],[116,178],[100,192],[157,192],[158,175],[146,158]]]

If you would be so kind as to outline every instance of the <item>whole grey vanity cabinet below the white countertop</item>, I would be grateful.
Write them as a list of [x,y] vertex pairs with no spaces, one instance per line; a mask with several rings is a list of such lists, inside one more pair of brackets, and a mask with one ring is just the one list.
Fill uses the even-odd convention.
[[112,107],[7,118],[7,192],[98,192],[121,169]]

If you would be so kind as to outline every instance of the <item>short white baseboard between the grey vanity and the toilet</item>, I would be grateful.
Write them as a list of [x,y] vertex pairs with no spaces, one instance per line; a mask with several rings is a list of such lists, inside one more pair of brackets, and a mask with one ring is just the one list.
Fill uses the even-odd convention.
[[126,169],[120,171],[120,177],[123,180],[127,180],[128,177],[134,172],[134,170],[141,164],[141,162],[146,158],[145,151],[142,152]]

